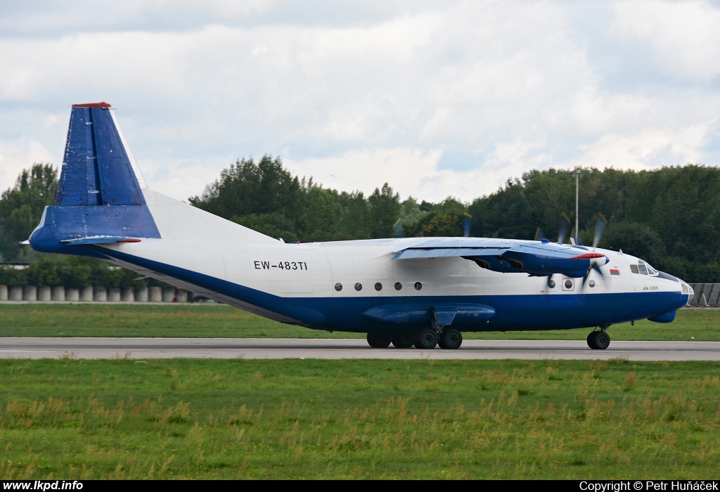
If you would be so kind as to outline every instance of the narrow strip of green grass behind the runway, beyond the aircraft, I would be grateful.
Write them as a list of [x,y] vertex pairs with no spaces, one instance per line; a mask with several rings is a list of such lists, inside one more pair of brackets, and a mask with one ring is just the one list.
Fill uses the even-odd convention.
[[[469,339],[585,340],[588,329],[466,333]],[[720,310],[681,309],[669,324],[616,324],[613,340],[720,341]],[[0,337],[292,337],[363,338],[364,334],[294,327],[230,306],[142,304],[0,304]]]

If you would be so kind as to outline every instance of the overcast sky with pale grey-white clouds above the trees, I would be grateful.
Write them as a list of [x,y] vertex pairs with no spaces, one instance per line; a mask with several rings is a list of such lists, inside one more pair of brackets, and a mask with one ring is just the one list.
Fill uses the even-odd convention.
[[720,4],[0,0],[0,189],[107,101],[151,188],[279,155],[471,201],[532,168],[720,160]]

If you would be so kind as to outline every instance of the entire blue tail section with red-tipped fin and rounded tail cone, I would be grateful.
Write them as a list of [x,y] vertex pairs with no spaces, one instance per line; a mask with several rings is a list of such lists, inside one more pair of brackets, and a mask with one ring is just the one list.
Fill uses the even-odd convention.
[[58,205],[45,208],[32,248],[85,254],[78,247],[161,237],[131,159],[109,104],[74,104]]

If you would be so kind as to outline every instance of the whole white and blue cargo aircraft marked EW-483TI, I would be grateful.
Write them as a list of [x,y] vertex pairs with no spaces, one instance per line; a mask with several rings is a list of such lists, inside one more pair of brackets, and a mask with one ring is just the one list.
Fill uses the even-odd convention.
[[462,332],[667,323],[687,283],[622,252],[413,237],[286,244],[150,190],[107,103],[73,105],[57,205],[37,251],[101,258],[276,321],[372,347],[456,349]]

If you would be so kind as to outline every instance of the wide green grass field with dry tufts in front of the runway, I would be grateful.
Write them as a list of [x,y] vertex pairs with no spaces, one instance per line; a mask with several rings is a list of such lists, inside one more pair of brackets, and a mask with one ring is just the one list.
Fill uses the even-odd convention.
[[714,478],[719,363],[0,360],[2,478]]

